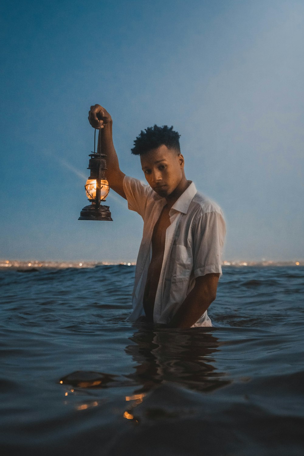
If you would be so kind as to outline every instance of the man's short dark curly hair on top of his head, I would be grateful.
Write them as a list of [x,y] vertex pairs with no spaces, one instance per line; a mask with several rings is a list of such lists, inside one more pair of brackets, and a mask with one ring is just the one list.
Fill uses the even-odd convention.
[[180,135],[177,131],[173,130],[173,126],[163,125],[158,127],[148,127],[144,131],[141,130],[140,134],[134,140],[134,147],[131,149],[134,155],[144,155],[151,149],[156,149],[161,145],[165,145],[168,149],[175,150],[176,155],[180,154]]

